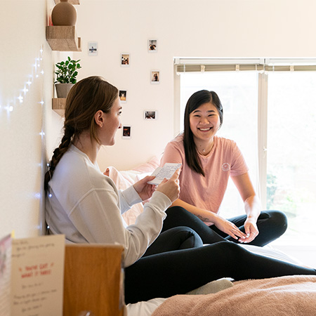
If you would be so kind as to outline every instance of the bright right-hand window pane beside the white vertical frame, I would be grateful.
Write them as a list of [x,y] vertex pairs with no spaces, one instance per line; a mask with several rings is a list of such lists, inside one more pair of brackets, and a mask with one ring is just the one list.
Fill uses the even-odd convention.
[[287,213],[293,242],[315,235],[315,84],[315,72],[269,74],[267,207]]

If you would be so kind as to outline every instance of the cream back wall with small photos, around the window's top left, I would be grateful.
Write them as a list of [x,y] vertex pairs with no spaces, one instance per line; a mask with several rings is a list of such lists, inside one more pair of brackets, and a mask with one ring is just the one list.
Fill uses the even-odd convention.
[[[122,123],[132,126],[131,140],[107,147],[99,155],[107,165],[129,169],[161,154],[178,133],[173,107],[174,57],[311,57],[315,42],[315,1],[286,0],[81,0],[77,33],[83,51],[79,77],[100,74],[127,89]],[[158,39],[158,52],[147,52],[147,39]],[[88,56],[88,41],[98,41],[98,56]],[[131,54],[131,65],[120,66],[120,54]],[[150,70],[160,70],[161,83],[150,84]],[[159,112],[144,121],[143,110]]]

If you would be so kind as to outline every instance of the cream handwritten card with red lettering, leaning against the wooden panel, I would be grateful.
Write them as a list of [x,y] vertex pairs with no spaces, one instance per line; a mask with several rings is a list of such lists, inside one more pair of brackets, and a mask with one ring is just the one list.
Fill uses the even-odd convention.
[[62,316],[64,258],[63,235],[13,239],[11,315]]

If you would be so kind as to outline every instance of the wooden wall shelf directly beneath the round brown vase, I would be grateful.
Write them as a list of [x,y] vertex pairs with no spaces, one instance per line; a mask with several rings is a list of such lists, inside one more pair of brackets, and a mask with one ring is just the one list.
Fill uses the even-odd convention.
[[74,26],[46,26],[46,40],[52,51],[81,51],[81,38]]

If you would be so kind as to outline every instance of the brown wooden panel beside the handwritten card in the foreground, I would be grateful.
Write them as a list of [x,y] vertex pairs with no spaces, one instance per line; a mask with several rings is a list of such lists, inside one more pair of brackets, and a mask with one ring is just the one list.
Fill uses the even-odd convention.
[[64,316],[125,314],[123,246],[66,244]]

